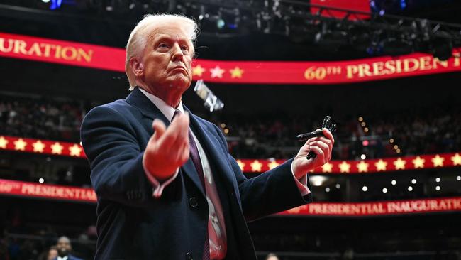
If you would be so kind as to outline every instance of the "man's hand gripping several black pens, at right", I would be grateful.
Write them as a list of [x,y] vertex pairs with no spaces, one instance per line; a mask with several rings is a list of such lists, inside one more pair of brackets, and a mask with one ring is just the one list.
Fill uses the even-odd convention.
[[[324,128],[322,131],[325,137],[321,136],[308,139],[294,158],[291,168],[296,178],[301,178],[309,172],[309,170],[323,166],[323,164],[331,160],[331,151],[333,151],[335,139],[328,129]],[[308,160],[306,156],[309,151],[313,151],[317,156]]]

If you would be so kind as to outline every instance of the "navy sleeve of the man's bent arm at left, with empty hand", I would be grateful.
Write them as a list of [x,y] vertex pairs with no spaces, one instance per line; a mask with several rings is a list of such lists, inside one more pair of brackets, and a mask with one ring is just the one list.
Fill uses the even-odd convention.
[[152,185],[143,169],[143,151],[127,119],[109,107],[96,107],[84,118],[82,146],[99,197],[143,207],[152,200]]

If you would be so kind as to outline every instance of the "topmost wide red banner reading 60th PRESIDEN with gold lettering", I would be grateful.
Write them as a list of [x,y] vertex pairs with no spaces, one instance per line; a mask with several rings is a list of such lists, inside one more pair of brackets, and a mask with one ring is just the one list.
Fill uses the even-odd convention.
[[[446,61],[413,53],[335,62],[194,60],[194,80],[254,84],[337,84],[461,70],[460,49]],[[0,33],[0,56],[125,71],[125,49]]]

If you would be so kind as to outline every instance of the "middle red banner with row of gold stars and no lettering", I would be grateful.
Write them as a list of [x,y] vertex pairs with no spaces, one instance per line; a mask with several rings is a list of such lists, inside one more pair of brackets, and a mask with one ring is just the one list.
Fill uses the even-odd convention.
[[[83,148],[79,143],[28,139],[13,136],[0,136],[0,150],[86,158]],[[238,159],[237,163],[245,173],[261,173],[279,166],[284,161],[285,160],[271,159]],[[461,166],[461,152],[379,158],[362,161],[330,161],[316,168],[312,173],[366,174],[454,166]]]

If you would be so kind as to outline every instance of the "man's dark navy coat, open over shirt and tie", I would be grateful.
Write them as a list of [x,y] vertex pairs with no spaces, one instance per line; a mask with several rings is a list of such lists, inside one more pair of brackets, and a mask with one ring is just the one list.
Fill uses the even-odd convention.
[[[220,129],[189,115],[223,205],[226,259],[256,259],[246,222],[304,205],[311,196],[301,197],[291,173],[292,160],[245,178]],[[209,212],[191,159],[160,198],[152,197],[142,158],[153,134],[153,119],[170,125],[138,88],[126,99],[91,109],[84,118],[82,144],[98,197],[95,259],[202,259]]]

